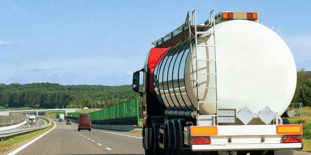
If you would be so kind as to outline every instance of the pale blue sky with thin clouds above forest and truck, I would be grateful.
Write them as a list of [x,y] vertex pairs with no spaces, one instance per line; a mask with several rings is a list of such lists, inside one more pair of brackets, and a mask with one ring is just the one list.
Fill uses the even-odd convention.
[[0,0],[0,83],[122,85],[143,67],[151,42],[196,10],[258,11],[311,70],[311,1]]

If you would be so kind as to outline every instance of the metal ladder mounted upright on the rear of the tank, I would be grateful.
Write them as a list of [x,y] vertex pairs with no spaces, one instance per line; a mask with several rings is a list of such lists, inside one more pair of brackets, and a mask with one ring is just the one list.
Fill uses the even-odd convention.
[[[189,19],[189,15],[188,15],[188,19]],[[194,63],[192,61],[192,71],[193,71],[193,74],[194,74],[194,71],[195,71],[195,74],[196,74],[196,79],[194,79],[194,75],[193,75],[193,80],[190,80],[192,82],[195,82],[196,84],[194,85],[194,88],[196,88],[196,96],[197,96],[197,115],[196,115],[196,124],[197,125],[218,125],[218,96],[217,96],[217,70],[216,70],[216,39],[215,39],[215,13],[214,13],[214,10],[212,10],[210,12],[210,18],[209,18],[209,28],[213,26],[213,31],[212,32],[207,32],[207,31],[196,31],[196,16],[195,16],[195,10],[192,12],[192,25],[194,25],[194,39],[195,39],[195,69],[194,69]],[[189,31],[191,32],[190,30],[190,25],[191,25],[191,22],[190,20],[188,20],[188,24],[189,24]],[[197,43],[197,35],[199,34],[210,34],[210,35],[213,35],[213,38],[214,38],[214,44],[212,45],[198,45]],[[191,38],[192,38],[192,35],[190,33],[190,46],[191,46],[191,56],[193,56],[193,50],[192,50],[192,42],[191,42]],[[214,50],[214,59],[197,59],[197,52],[198,52],[198,48],[206,48],[206,47],[212,47],[212,49]],[[206,51],[206,55],[209,55],[209,52]],[[192,59],[193,60],[193,57]],[[215,62],[215,73],[211,73],[210,71],[209,72],[206,72],[206,73],[198,73],[198,64],[199,62]],[[209,63],[210,64],[210,63]],[[207,69],[206,69],[207,70]],[[199,81],[200,78],[198,78],[199,76],[209,76],[210,75],[215,75],[215,87],[209,87],[209,86],[206,86],[206,87],[200,87],[199,84],[200,82],[202,81]],[[215,99],[216,100],[213,100],[213,101],[201,101],[200,100],[200,97],[199,97],[199,89],[205,89],[205,90],[209,90],[209,89],[214,89],[215,90]],[[199,104],[211,104],[211,103],[214,103],[216,104],[216,113],[213,114],[213,115],[199,115]],[[202,123],[200,123],[200,120]],[[211,124],[205,124],[204,122],[206,121],[203,121],[203,120],[211,120]]]

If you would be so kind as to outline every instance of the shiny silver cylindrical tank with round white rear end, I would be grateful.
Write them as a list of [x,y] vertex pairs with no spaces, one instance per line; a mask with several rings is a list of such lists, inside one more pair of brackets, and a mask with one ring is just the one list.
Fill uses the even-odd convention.
[[[288,107],[296,87],[296,65],[282,38],[268,27],[247,20],[231,20],[216,27],[218,107],[247,106],[259,112],[265,106],[278,112]],[[207,31],[212,31],[209,29]],[[212,45],[213,35],[198,36],[198,44]],[[193,52],[195,52],[194,40]],[[197,47],[197,59],[215,59],[213,47]],[[194,64],[194,71],[192,67]],[[154,88],[169,110],[197,108],[195,54],[185,41],[169,49],[157,62]],[[198,73],[215,73],[215,62],[198,62]],[[199,75],[199,87],[215,87],[215,75]],[[201,101],[216,99],[216,89],[199,89]],[[203,115],[215,113],[215,103],[199,105]]]

